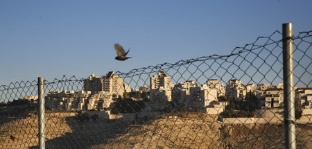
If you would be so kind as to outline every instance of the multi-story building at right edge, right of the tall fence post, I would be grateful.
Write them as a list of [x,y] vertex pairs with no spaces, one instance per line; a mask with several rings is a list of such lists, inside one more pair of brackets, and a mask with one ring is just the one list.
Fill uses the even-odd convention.
[[312,108],[312,87],[301,87],[295,90],[295,99],[304,108]]

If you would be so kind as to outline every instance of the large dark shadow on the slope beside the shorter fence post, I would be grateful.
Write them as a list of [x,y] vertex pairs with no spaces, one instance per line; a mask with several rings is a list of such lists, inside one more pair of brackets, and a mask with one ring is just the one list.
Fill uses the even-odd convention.
[[55,139],[47,138],[46,148],[91,148],[106,143],[130,129],[129,123],[120,120],[98,119],[96,116],[84,114],[67,117],[66,121],[72,132]]

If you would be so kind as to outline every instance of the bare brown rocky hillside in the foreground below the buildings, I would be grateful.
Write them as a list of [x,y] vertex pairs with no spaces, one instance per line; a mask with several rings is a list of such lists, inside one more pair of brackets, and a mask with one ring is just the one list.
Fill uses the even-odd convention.
[[[46,148],[284,148],[283,125],[222,125],[194,112],[139,123],[72,115],[46,114]],[[34,114],[2,123],[0,148],[38,148],[37,126]],[[297,125],[296,134],[297,148],[312,148],[310,125]]]

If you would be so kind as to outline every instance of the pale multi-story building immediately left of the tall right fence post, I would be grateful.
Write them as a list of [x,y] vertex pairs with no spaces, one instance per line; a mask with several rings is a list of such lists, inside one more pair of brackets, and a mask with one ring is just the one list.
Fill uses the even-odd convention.
[[283,107],[284,90],[281,88],[266,89],[265,107]]

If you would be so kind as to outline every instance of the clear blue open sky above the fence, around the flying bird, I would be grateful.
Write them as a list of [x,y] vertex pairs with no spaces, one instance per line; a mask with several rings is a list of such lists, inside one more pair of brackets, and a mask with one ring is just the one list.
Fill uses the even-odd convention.
[[[281,30],[312,30],[312,1],[0,1],[0,85],[177,62]],[[114,43],[132,59],[114,60]]]

